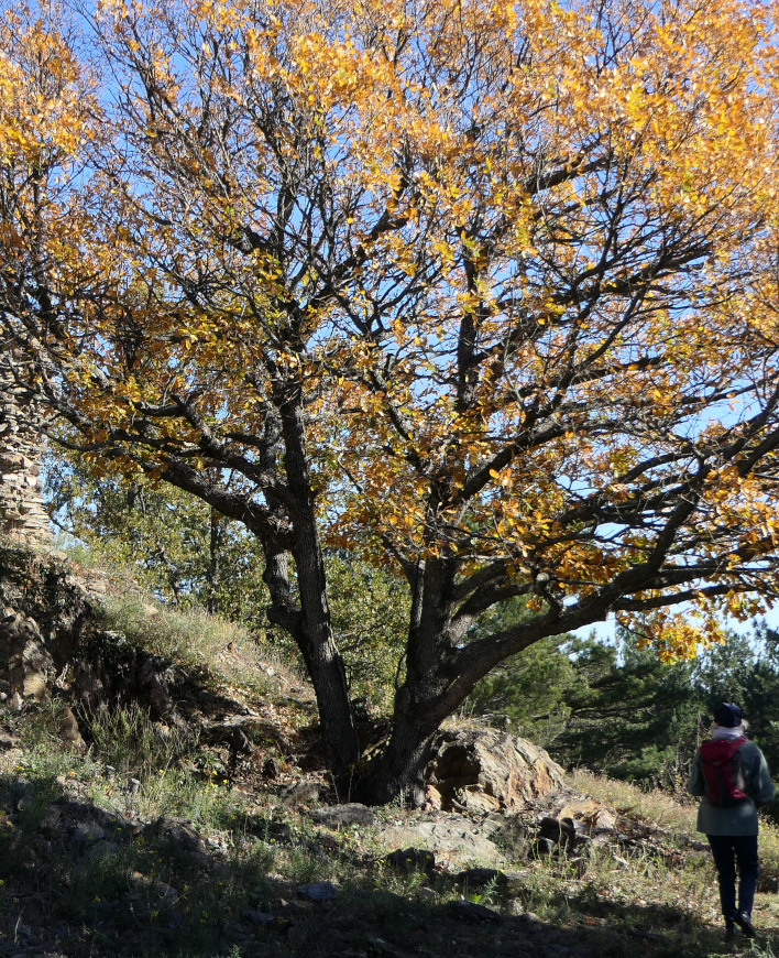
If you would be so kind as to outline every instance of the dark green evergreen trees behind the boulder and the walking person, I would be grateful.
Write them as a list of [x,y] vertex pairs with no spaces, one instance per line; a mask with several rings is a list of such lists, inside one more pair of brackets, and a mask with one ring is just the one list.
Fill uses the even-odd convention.
[[625,632],[614,644],[545,640],[487,676],[470,705],[566,766],[678,791],[723,700],[743,706],[779,774],[779,632],[765,624],[681,663],[637,650]]

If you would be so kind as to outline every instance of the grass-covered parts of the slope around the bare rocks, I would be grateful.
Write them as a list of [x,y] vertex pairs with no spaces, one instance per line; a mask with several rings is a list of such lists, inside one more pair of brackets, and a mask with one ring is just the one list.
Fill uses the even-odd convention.
[[[633,847],[534,860],[522,843],[509,846],[507,886],[462,886],[445,872],[396,873],[381,861],[392,850],[382,828],[404,818],[403,809],[382,809],[375,826],[334,832],[283,801],[292,784],[325,781],[312,748],[312,703],[298,676],[217,620],[153,611],[138,599],[109,607],[113,629],[197,671],[219,696],[212,714],[188,728],[160,729],[134,709],[105,712],[86,752],[62,741],[56,707],[0,714],[0,955],[777,951],[773,827],[761,837],[755,919],[765,936],[757,945],[722,938],[709,856],[690,846],[694,808],[585,773],[571,776],[572,787],[616,809]],[[246,711],[251,758],[207,743],[209,722]],[[163,815],[187,819],[197,834],[176,823],[150,825]],[[319,880],[337,882],[339,897],[299,901],[297,886]],[[459,913],[463,899],[497,916]]]

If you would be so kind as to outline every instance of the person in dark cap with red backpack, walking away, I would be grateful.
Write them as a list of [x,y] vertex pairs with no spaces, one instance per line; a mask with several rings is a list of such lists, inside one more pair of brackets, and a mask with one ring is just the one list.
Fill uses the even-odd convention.
[[711,740],[695,754],[688,791],[701,797],[698,830],[705,834],[712,850],[725,933],[733,935],[738,925],[747,938],[754,938],[757,809],[773,798],[776,790],[762,752],[746,738],[747,722],[740,707],[723,703],[714,711],[714,722]]

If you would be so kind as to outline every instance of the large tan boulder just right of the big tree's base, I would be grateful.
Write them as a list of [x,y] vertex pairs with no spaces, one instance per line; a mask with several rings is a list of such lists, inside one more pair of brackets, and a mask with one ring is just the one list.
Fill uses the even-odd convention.
[[471,727],[441,732],[425,776],[432,807],[474,814],[517,812],[563,784],[562,769],[544,749]]

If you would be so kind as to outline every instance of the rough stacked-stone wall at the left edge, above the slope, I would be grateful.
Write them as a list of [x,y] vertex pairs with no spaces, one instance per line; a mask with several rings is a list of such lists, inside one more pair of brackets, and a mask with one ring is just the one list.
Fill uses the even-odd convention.
[[51,546],[41,479],[42,412],[24,385],[28,364],[13,346],[0,356],[0,532],[22,545]]

